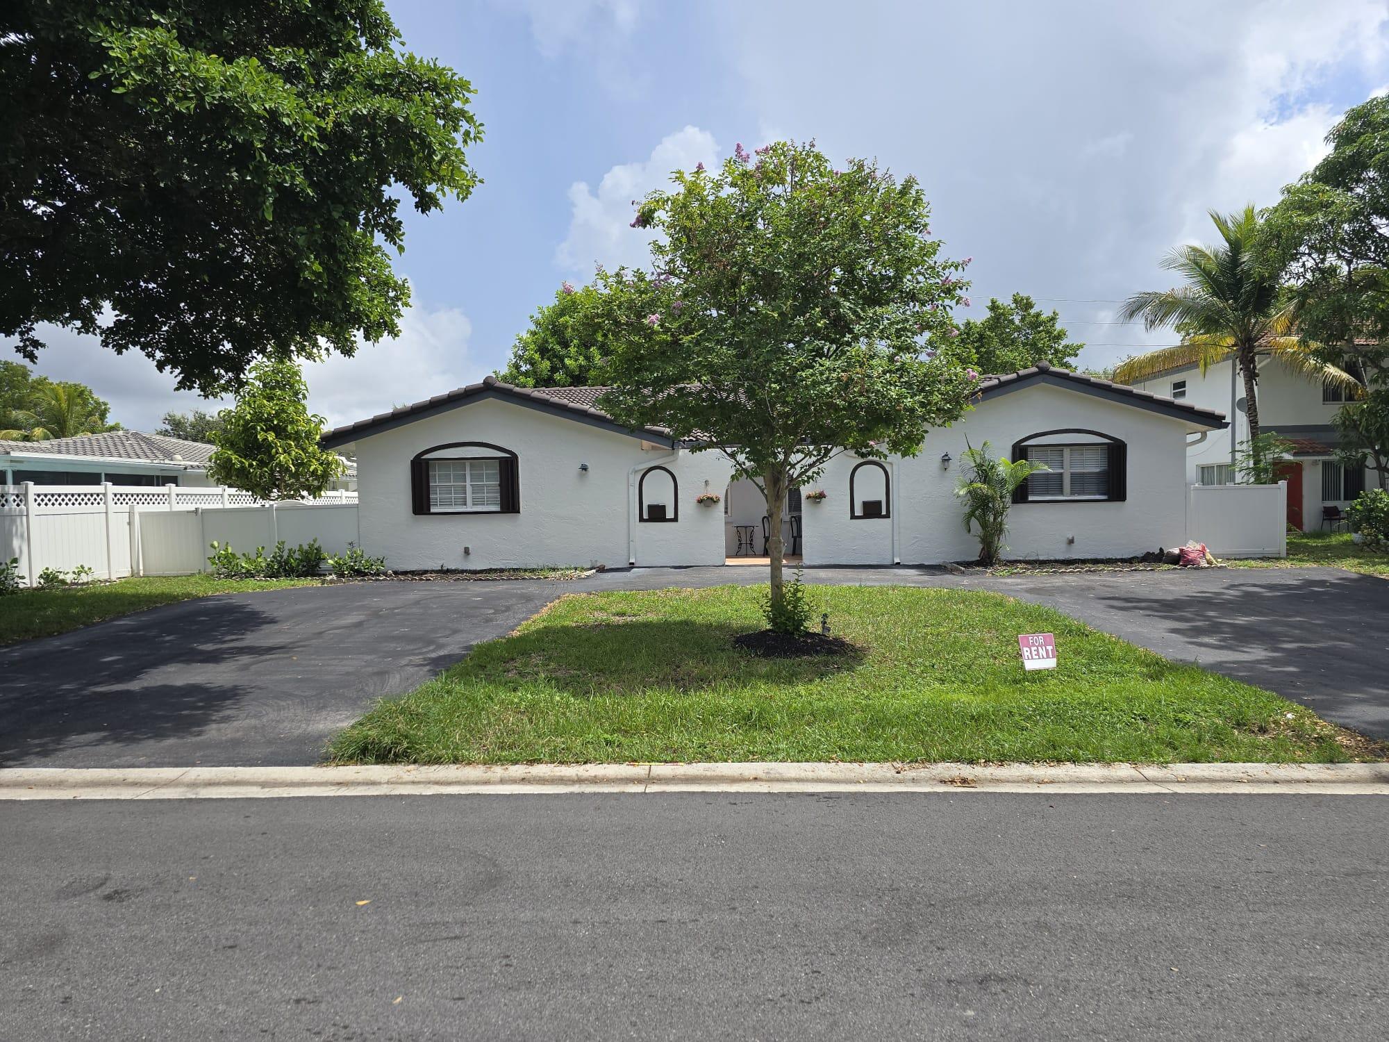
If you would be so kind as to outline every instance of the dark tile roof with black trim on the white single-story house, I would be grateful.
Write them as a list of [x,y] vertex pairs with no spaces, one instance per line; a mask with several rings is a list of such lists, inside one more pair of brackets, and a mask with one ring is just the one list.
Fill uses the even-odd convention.
[[[1107,379],[1086,377],[1079,372],[1071,372],[1070,370],[1057,370],[1046,363],[1039,363],[1032,368],[1008,372],[1000,377],[985,377],[979,382],[979,395],[1006,393],[1036,382],[1071,385],[1074,389],[1083,390],[1086,393],[1114,399],[1124,404],[1139,406],[1142,408],[1182,420],[1193,420],[1208,427],[1228,425],[1225,422],[1225,414],[1218,413],[1214,408],[1189,406],[1185,402],[1176,402],[1174,399],[1129,388],[1122,383],[1111,383]],[[324,445],[347,445],[360,435],[368,435],[378,429],[400,427],[401,424],[413,422],[414,420],[424,418],[425,415],[447,411],[464,404],[468,399],[481,396],[511,397],[529,404],[543,403],[544,407],[553,408],[561,415],[569,414],[574,418],[596,421],[601,425],[625,431],[625,428],[615,424],[613,417],[597,408],[594,404],[594,402],[597,402],[597,399],[607,390],[608,388],[517,388],[511,383],[503,383],[496,377],[486,377],[481,383],[469,383],[465,388],[450,390],[446,395],[436,395],[435,397],[425,399],[424,402],[415,402],[411,406],[401,406],[400,408],[393,408],[389,413],[374,415],[369,420],[360,420],[356,424],[347,424],[346,427],[328,431],[324,433]],[[669,440],[669,431],[661,427],[649,427],[626,432],[649,436],[657,440]]]

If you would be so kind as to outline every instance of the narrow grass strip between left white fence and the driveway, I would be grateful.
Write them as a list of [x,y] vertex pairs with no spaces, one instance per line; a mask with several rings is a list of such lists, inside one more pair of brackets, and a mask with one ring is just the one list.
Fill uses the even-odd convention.
[[26,589],[0,597],[0,645],[53,636],[106,618],[213,593],[317,586],[319,579],[214,579],[211,575],[149,575],[57,589]]

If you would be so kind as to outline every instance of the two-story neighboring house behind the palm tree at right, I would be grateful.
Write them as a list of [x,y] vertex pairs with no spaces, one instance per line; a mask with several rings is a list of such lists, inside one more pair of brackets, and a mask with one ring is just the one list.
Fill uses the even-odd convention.
[[[1238,481],[1235,460],[1249,440],[1249,417],[1245,382],[1233,361],[1204,374],[1199,365],[1168,370],[1133,386],[1235,417],[1225,433],[1196,438],[1188,446],[1186,479],[1199,485]],[[1335,460],[1340,438],[1332,418],[1345,400],[1338,386],[1293,372],[1275,358],[1261,360],[1258,425],[1292,442],[1292,458],[1279,465],[1279,477],[1288,481],[1288,524],[1295,528],[1317,531],[1332,508],[1343,513],[1374,479],[1368,470],[1345,468]]]

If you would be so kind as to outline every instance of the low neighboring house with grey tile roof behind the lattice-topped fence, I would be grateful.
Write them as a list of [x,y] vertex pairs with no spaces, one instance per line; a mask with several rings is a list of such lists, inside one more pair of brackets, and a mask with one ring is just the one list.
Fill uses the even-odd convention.
[[[46,442],[0,440],[0,483],[19,485],[181,485],[206,488],[213,446],[181,438],[107,431],[53,438]],[[333,482],[333,489],[356,490],[356,464]]]

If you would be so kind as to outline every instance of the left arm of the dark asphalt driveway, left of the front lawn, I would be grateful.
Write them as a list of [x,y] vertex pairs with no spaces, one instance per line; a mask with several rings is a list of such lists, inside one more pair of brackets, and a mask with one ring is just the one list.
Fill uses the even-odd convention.
[[228,593],[0,649],[0,766],[317,763],[574,584],[363,582]]

